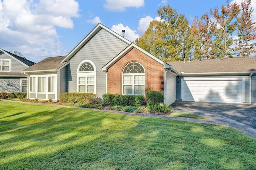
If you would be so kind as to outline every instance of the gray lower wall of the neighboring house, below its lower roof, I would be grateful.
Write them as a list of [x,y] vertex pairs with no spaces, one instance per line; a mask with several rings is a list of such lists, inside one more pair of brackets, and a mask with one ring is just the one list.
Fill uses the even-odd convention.
[[20,78],[0,77],[0,92],[20,92]]

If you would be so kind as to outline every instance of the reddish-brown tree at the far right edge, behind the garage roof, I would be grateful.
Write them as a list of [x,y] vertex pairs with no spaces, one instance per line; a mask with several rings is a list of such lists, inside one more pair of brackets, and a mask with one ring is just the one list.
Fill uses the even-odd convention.
[[239,57],[248,57],[251,53],[255,53],[254,43],[256,40],[256,22],[252,22],[252,12],[254,11],[251,6],[252,0],[244,0],[241,2],[242,13],[237,18],[238,28],[238,41],[237,47],[234,50],[239,52]]

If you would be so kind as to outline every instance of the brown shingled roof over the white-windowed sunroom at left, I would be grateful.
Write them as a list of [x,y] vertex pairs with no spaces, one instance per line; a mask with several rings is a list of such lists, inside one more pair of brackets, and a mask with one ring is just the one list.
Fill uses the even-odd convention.
[[57,69],[59,69],[60,67],[68,64],[68,61],[64,63],[60,63],[60,61],[62,61],[62,59],[64,59],[65,57],[66,56],[48,57],[36,63],[35,65],[32,65],[27,69],[24,69],[22,73],[37,72],[37,71],[40,71],[40,72],[41,71],[57,71]]

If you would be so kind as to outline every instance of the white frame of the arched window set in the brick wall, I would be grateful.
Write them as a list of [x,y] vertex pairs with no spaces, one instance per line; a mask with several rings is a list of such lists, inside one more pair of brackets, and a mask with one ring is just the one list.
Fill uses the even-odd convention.
[[[130,62],[130,63],[138,63],[138,62]],[[128,64],[130,64],[130,63],[128,63]],[[126,64],[126,66],[128,65],[128,64]],[[140,63],[138,63],[138,64],[140,64]],[[143,67],[143,65],[142,64],[140,64],[141,65],[141,67],[144,69],[144,67]],[[124,68],[126,68],[126,66],[124,67]],[[132,84],[124,84],[124,76],[132,76]],[[135,76],[136,75],[142,75],[142,76],[144,76],[144,84],[135,84]],[[132,85],[132,94],[124,94],[124,86],[125,85]],[[135,86],[144,86],[144,93],[143,94],[135,94]],[[146,71],[145,71],[145,69],[144,69],[144,73],[124,73],[124,69],[123,69],[123,71],[122,71],[122,94],[123,95],[145,95],[145,89],[146,89]]]

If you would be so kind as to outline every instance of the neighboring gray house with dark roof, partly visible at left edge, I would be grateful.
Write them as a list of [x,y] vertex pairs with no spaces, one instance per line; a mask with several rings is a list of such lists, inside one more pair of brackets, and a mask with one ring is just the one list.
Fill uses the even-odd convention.
[[35,63],[0,49],[0,92],[27,92],[28,76],[22,70]]

